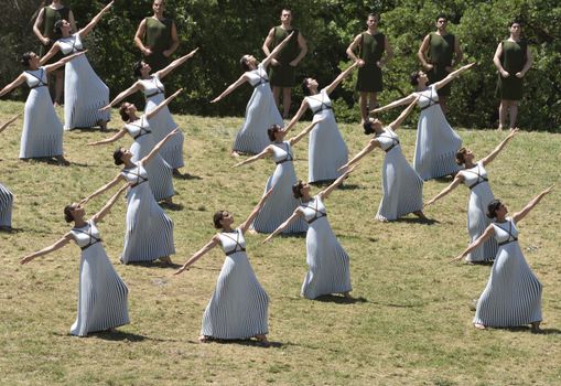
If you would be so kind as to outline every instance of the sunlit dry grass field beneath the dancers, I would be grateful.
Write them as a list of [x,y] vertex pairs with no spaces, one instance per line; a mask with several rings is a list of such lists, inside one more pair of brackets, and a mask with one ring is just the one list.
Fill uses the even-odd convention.
[[[0,121],[23,110],[0,103]],[[60,111],[61,112],[61,111]],[[413,117],[418,114],[413,112]],[[120,122],[114,111],[111,128]],[[274,169],[260,161],[241,169],[229,149],[241,118],[177,116],[185,159],[195,178],[174,180],[177,207],[175,262],[183,264],[215,233],[212,215],[229,210],[245,219]],[[0,233],[0,384],[2,385],[553,385],[561,384],[561,187],[520,223],[520,244],[543,283],[543,333],[529,329],[478,331],[470,309],[489,266],[447,264],[467,243],[467,189],[430,206],[427,215],[382,224],[374,219],[381,195],[377,151],[326,202],[330,222],[350,256],[354,303],[300,297],[305,240],[279,237],[262,245],[248,235],[248,256],[270,297],[265,349],[247,342],[197,343],[201,318],[224,255],[215,248],[193,269],[172,277],[158,264],[120,265],[126,205],[120,200],[99,228],[119,275],[129,286],[131,324],[118,333],[78,339],[79,248],[75,245],[20,266],[24,255],[68,230],[64,205],[84,197],[119,171],[114,146],[86,147],[99,131],[65,133],[69,167],[18,160],[21,118],[0,135],[0,181],[15,194],[12,233]],[[411,124],[410,124],[411,125]],[[299,128],[303,128],[300,125]],[[350,154],[366,143],[358,125],[342,125]],[[414,130],[400,130],[411,160]],[[476,158],[506,133],[458,130]],[[119,143],[129,146],[130,138]],[[308,174],[306,143],[294,148],[296,172]],[[516,212],[558,183],[561,136],[520,132],[487,170],[497,197]],[[424,184],[428,200],[450,181]],[[315,191],[315,190],[314,190]],[[88,204],[93,214],[108,193]]]

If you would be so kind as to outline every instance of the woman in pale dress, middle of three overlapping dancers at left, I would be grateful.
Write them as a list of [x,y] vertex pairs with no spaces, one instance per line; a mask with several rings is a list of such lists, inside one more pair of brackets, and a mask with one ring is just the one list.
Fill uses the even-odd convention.
[[[149,122],[154,116],[162,114],[162,110],[168,108],[170,101],[172,101],[181,92],[182,89],[179,89],[169,98],[162,100],[157,108],[145,115],[141,115],[140,117],[137,115],[138,110],[133,104],[123,103],[119,109],[119,114],[121,115],[122,120],[127,122],[125,127],[110,138],[90,142],[88,144],[96,146],[111,143],[128,133],[134,139],[134,142],[130,147],[130,152],[132,153],[131,161],[133,163],[140,161],[142,158],[148,156],[155,146],[152,126],[149,125]],[[150,184],[150,189],[152,190],[157,201],[171,203],[172,196],[175,194],[173,189],[172,168],[161,157],[160,152],[154,156],[151,162],[145,164],[149,179],[148,183]]]

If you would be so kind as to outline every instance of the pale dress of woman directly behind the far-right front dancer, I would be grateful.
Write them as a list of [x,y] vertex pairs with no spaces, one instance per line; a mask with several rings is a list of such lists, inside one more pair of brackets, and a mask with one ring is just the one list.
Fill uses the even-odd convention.
[[[470,187],[470,203],[467,204],[467,232],[470,233],[470,243],[475,242],[492,223],[487,217],[487,205],[495,199],[487,179],[487,171],[483,162],[471,169],[458,171],[464,178],[464,184]],[[497,255],[497,240],[489,238],[484,245],[472,250],[466,257],[466,261],[492,261]]]

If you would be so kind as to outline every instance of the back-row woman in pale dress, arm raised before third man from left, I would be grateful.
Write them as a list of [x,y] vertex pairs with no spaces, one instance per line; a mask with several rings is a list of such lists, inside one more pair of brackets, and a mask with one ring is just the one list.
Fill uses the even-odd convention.
[[269,146],[267,129],[272,125],[283,126],[279,108],[274,104],[267,67],[279,52],[287,45],[292,33],[288,35],[269,56],[261,63],[257,62],[252,55],[244,55],[239,61],[244,74],[231,85],[229,85],[219,96],[211,103],[215,104],[236,88],[248,82],[253,87],[253,94],[246,107],[244,125],[236,136],[231,153],[258,154]]

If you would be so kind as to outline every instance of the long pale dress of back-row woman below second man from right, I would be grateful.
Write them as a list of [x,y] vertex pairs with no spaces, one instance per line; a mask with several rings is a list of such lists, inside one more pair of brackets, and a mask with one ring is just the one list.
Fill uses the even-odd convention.
[[452,129],[439,104],[434,85],[420,92],[421,116],[417,125],[413,168],[427,181],[453,174],[460,170],[455,153],[462,139]]

